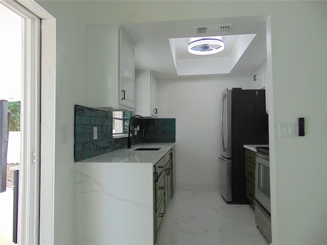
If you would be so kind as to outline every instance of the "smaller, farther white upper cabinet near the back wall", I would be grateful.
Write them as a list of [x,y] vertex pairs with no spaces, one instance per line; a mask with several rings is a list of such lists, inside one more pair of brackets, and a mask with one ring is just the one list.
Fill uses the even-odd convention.
[[158,81],[150,70],[135,71],[135,110],[134,114],[147,118],[158,115]]

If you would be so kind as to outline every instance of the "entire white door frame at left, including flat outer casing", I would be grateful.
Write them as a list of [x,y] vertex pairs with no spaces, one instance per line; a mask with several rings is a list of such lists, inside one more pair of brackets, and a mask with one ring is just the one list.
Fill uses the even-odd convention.
[[17,242],[53,244],[56,20],[34,1],[0,1],[26,19],[24,35],[35,44],[24,52],[28,62],[24,69],[32,71],[27,81],[34,86],[27,88],[22,100],[33,98],[26,106],[35,112],[23,119],[28,136],[22,138],[26,155],[22,160],[29,164],[20,168]]

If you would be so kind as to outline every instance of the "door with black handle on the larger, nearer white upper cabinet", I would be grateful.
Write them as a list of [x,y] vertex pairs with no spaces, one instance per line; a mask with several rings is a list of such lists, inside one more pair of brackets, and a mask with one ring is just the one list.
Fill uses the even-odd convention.
[[120,44],[120,104],[135,107],[134,47],[125,33],[119,30]]

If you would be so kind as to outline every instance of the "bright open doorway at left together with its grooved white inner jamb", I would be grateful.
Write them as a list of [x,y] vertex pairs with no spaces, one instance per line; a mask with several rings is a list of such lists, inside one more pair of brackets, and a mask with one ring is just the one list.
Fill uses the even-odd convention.
[[40,20],[15,2],[1,1],[0,13],[0,100],[8,102],[11,111],[5,163],[7,188],[0,193],[0,243],[36,244],[39,239]]

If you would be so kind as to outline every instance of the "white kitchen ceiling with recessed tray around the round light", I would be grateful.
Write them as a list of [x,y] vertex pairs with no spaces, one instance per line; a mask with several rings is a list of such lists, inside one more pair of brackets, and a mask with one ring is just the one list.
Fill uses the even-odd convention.
[[[226,50],[219,54],[207,56],[187,53],[189,41],[200,36],[213,36],[208,35],[212,33],[197,34],[195,27],[225,24],[232,24],[231,31],[220,36],[225,42]],[[152,70],[159,79],[250,76],[266,61],[267,57],[265,16],[125,23],[121,26],[135,45],[135,69]],[[244,45],[240,48],[242,38],[248,42],[245,45],[248,45],[247,48]],[[252,38],[253,40],[249,41]],[[175,53],[177,54],[175,62],[169,39],[180,41],[175,46]],[[239,44],[237,44],[238,42]],[[244,44],[243,41],[242,43]],[[237,54],[234,57],[231,56],[233,52]],[[186,60],[184,63],[187,64],[178,72],[178,74],[182,74],[180,76],[177,75],[175,67],[178,60]],[[177,65],[177,67],[179,66]],[[186,72],[186,70],[194,71],[194,75]]]

